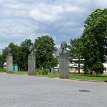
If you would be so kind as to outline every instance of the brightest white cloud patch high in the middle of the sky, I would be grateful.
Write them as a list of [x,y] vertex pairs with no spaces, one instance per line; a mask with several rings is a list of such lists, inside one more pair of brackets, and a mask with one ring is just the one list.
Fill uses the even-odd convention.
[[67,12],[82,12],[83,9],[72,5],[45,5],[39,4],[36,8],[32,9],[30,16],[39,21],[55,21],[62,18],[61,14]]

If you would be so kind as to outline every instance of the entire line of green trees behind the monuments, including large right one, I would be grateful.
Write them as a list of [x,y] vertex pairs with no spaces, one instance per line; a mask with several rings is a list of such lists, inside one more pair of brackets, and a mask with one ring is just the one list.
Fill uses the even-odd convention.
[[[22,42],[20,46],[14,43],[9,44],[13,50],[14,63],[17,63],[22,70],[27,69],[27,56],[31,44],[30,39]],[[56,51],[56,47],[51,37],[38,37],[34,46],[36,49],[36,66],[38,68],[50,68],[58,64],[58,60],[52,55],[53,51]],[[85,21],[82,36],[71,40],[68,48],[70,49],[70,62],[74,58],[82,58],[84,59],[83,69],[85,73],[93,70],[96,73],[102,73],[103,62],[106,61],[105,56],[107,55],[107,9],[97,9],[92,12]],[[5,62],[6,54],[5,48],[3,54],[0,55],[2,62]]]

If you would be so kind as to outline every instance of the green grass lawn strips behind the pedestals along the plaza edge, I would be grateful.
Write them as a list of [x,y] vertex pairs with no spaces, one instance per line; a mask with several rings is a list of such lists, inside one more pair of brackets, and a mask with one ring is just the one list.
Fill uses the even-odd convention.
[[[1,69],[0,72],[5,72],[5,71],[3,69]],[[19,72],[15,72],[14,74],[27,75],[28,72],[19,71]],[[56,77],[59,77],[59,74],[53,72],[53,73],[48,73],[47,75],[41,75],[37,72],[36,76],[56,78]],[[70,74],[69,79],[107,82],[107,75]]]

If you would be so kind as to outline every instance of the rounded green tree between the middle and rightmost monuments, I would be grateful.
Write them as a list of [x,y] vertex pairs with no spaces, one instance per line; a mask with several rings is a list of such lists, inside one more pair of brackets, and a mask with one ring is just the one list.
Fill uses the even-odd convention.
[[41,36],[35,39],[36,66],[37,68],[51,68],[57,65],[58,61],[53,56],[55,44],[52,37]]

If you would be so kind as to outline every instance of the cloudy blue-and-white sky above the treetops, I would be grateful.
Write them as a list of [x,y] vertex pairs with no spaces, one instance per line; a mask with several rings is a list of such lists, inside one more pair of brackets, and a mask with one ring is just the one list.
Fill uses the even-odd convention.
[[107,0],[0,0],[0,52],[10,42],[50,35],[56,46],[82,35],[84,21]]

